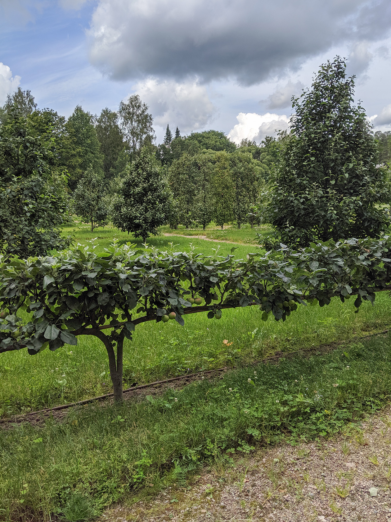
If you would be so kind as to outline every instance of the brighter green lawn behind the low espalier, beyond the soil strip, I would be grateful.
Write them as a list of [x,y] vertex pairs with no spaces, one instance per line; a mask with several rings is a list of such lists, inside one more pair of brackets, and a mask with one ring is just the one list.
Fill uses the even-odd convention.
[[[96,242],[104,248],[113,236],[120,241],[132,241],[127,234],[108,228],[93,233],[79,230],[77,241],[85,243],[97,238]],[[174,247],[175,251],[189,251],[192,244],[205,254],[214,254],[219,248],[224,256],[233,246],[161,236],[151,238],[148,244],[162,250]],[[235,257],[245,257],[251,251],[254,246],[239,245]],[[391,323],[391,299],[386,293],[377,294],[374,306],[364,303],[358,314],[354,312],[353,299],[344,304],[335,299],[323,308],[300,306],[285,323],[276,322],[272,317],[266,323],[261,321],[258,307],[225,310],[219,321],[207,319],[206,314],[187,316],[184,327],[174,321],[145,323],[136,328],[132,341],[125,341],[125,386],[225,365],[240,366],[276,350],[349,340],[362,333],[381,330]],[[106,351],[97,339],[90,337],[81,337],[76,347],[65,346],[55,352],[45,350],[35,356],[24,350],[4,353],[0,356],[0,378],[0,414],[3,415],[111,392]]]

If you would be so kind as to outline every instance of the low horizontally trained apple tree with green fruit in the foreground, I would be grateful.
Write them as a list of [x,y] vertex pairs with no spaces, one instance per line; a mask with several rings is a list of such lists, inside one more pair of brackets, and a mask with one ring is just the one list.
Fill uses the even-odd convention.
[[137,325],[170,319],[184,325],[198,312],[220,319],[224,309],[250,305],[259,306],[263,321],[270,314],[285,321],[299,304],[324,306],[333,296],[357,295],[358,309],[391,288],[390,250],[389,238],[329,241],[237,260],[114,244],[104,252],[78,245],[48,257],[0,259],[0,353],[27,348],[34,355],[95,336],[121,401],[124,340]]

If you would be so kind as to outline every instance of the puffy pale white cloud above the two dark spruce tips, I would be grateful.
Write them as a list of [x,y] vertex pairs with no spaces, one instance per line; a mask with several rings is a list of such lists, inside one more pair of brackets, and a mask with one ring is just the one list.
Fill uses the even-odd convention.
[[197,81],[148,78],[138,82],[135,90],[149,106],[155,125],[178,126],[181,134],[204,128],[215,113],[206,87]]

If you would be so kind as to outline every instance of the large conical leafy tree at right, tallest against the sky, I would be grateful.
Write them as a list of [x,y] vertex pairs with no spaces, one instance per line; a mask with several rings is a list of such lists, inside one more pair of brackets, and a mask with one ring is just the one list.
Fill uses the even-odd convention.
[[268,220],[286,244],[378,236],[388,225],[386,169],[361,105],[354,77],[336,57],[312,88],[292,98],[295,116],[275,168]]

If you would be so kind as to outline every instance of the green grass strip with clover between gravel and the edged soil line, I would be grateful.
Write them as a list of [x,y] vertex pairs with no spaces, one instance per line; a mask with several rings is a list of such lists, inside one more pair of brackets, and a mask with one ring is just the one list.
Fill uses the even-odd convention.
[[373,338],[323,356],[235,370],[150,400],[69,411],[65,422],[48,420],[43,428],[0,430],[0,518],[90,519],[139,489],[184,483],[205,460],[224,465],[232,453],[260,444],[359,433],[362,413],[389,400],[390,343]]

